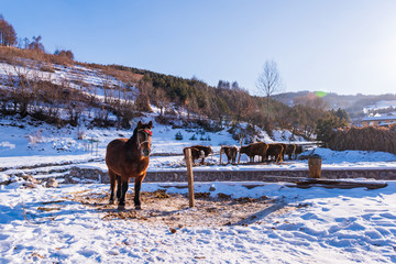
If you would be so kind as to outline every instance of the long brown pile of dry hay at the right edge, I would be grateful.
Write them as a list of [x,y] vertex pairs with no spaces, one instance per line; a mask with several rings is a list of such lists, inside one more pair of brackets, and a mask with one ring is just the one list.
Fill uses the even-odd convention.
[[333,132],[327,146],[333,151],[381,151],[396,154],[396,124],[389,128],[346,128]]

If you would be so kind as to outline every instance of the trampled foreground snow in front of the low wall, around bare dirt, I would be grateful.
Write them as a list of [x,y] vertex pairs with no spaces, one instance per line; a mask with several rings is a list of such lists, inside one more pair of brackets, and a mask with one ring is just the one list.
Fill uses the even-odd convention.
[[[297,189],[282,183],[248,189],[237,183],[196,183],[196,191],[215,186],[234,197],[265,195],[277,201],[252,216],[248,226],[219,227],[106,220],[102,211],[67,199],[84,191],[107,191],[106,185],[56,189],[20,189],[20,185],[0,187],[0,263],[396,262],[395,182],[376,190]],[[160,184],[143,184],[143,190],[158,188]],[[196,209],[177,215],[183,219],[191,210]]]

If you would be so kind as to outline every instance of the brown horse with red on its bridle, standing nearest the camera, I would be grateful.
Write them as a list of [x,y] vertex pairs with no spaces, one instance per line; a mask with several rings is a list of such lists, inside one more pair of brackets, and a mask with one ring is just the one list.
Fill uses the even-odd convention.
[[117,139],[107,146],[106,164],[110,175],[110,204],[114,204],[117,183],[119,209],[125,207],[125,195],[130,178],[135,178],[133,201],[136,210],[141,209],[140,190],[148,166],[152,128],[152,121],[148,123],[139,121],[131,139]]

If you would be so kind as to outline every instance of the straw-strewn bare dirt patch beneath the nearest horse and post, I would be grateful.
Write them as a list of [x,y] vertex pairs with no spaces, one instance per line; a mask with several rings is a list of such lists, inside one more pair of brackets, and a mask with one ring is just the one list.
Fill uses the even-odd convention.
[[282,213],[295,208],[282,201],[261,198],[238,198],[219,194],[213,198],[210,193],[196,193],[196,207],[189,208],[187,195],[167,194],[160,189],[141,195],[142,210],[135,210],[133,194],[127,196],[127,207],[118,210],[117,205],[109,205],[109,194],[73,194],[72,200],[92,207],[102,212],[103,220],[130,220],[154,226],[167,226],[174,230],[184,227],[222,227],[248,226],[265,222],[271,213]]

